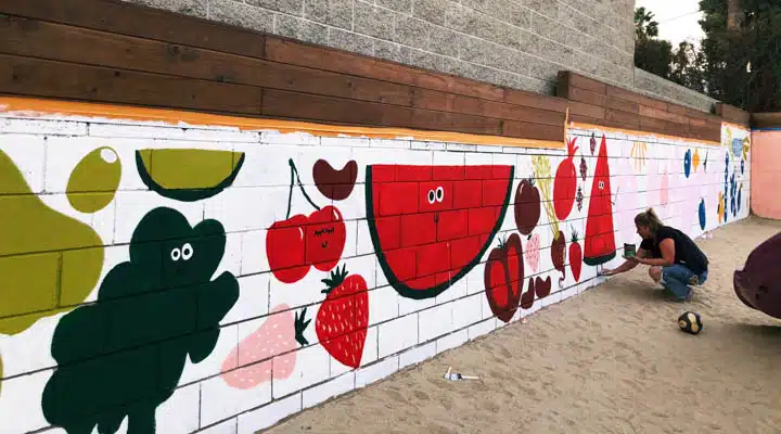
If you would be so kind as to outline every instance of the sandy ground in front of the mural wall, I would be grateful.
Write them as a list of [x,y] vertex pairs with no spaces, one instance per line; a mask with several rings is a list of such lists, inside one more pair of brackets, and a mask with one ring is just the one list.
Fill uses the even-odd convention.
[[[745,307],[732,271],[781,230],[750,218],[699,240],[708,282],[669,301],[644,267],[268,433],[780,433],[781,320]],[[703,316],[697,336],[678,330]],[[452,366],[481,381],[448,382]]]

